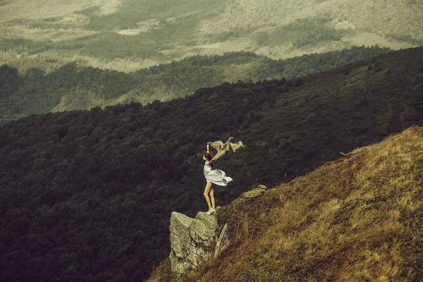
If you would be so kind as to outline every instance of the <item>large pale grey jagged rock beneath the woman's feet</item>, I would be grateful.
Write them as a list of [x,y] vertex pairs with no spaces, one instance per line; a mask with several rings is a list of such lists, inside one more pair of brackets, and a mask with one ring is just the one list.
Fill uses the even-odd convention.
[[195,219],[172,212],[169,228],[172,271],[179,275],[186,274],[228,247],[226,228],[223,227],[221,233],[216,234],[218,228],[216,217],[205,212],[198,212]]

